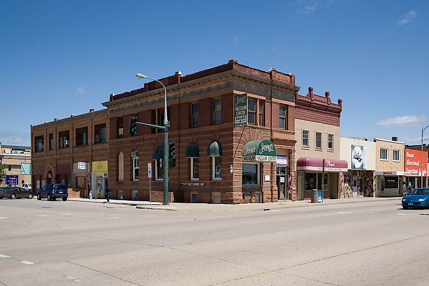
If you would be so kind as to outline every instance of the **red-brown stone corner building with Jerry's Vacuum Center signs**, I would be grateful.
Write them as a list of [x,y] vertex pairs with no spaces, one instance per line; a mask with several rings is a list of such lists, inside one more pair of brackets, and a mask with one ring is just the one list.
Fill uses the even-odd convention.
[[[276,156],[286,165],[279,175],[294,175],[295,94],[299,91],[294,75],[230,60],[160,81],[167,88],[169,140],[176,148],[177,166],[169,170],[174,201],[276,202]],[[247,94],[247,124],[235,127],[234,100],[240,94]],[[163,103],[164,90],[155,81],[111,94],[110,101],[103,103],[109,112],[112,198],[149,200],[147,163],[152,164],[151,189],[162,191],[162,132],[138,125],[137,134],[130,136],[128,129],[130,118],[163,125]],[[255,150],[271,153],[260,156]]]

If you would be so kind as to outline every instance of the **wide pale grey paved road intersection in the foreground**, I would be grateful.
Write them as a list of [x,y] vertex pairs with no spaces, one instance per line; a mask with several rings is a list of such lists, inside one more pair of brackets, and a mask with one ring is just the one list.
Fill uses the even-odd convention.
[[429,210],[399,201],[172,212],[0,201],[0,285],[427,285]]

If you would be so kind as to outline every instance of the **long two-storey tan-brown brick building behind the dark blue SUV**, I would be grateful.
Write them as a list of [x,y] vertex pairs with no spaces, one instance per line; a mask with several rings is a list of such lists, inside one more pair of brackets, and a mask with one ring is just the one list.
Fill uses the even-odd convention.
[[[31,182],[34,190],[63,183],[88,197],[89,189],[108,177],[108,111],[89,110],[82,115],[31,125]],[[95,192],[94,192],[95,197]]]

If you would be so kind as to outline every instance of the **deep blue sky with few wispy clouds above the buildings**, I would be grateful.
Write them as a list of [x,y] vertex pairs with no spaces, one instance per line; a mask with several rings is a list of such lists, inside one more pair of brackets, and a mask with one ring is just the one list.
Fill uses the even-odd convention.
[[[343,100],[341,134],[420,144],[429,124],[426,1],[0,1],[0,142],[104,108],[143,73],[238,59]],[[429,132],[427,136],[429,137]]]

